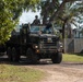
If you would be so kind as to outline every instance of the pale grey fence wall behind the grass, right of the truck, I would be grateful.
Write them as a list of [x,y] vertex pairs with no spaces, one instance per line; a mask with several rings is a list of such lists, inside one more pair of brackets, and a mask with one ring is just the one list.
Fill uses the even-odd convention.
[[64,52],[82,52],[83,38],[67,38],[64,39]]

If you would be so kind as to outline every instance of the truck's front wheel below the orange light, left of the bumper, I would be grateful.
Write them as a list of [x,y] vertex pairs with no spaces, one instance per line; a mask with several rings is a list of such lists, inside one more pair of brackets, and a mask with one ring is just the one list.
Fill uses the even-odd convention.
[[26,50],[26,58],[27,58],[27,62],[29,62],[29,63],[37,63],[38,62],[38,56],[31,48],[28,48]]

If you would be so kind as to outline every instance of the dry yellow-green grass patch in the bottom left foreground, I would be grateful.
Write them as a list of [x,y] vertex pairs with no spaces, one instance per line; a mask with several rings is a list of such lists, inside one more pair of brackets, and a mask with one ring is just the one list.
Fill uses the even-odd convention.
[[29,68],[0,65],[0,82],[38,82],[45,73]]

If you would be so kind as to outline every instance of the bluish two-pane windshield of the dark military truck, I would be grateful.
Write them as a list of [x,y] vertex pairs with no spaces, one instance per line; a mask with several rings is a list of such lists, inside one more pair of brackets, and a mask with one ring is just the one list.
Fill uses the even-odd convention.
[[46,26],[31,26],[31,33],[51,34],[52,28],[46,28]]

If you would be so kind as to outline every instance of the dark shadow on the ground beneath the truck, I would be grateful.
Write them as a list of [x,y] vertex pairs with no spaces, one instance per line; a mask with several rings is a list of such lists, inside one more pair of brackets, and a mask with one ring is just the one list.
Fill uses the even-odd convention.
[[46,65],[54,65],[50,59],[43,59],[36,63],[29,63],[26,61],[26,58],[21,58],[20,61],[13,62],[9,61],[8,57],[0,57],[0,65],[13,65],[13,66],[46,66]]

